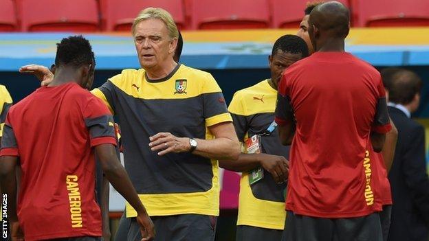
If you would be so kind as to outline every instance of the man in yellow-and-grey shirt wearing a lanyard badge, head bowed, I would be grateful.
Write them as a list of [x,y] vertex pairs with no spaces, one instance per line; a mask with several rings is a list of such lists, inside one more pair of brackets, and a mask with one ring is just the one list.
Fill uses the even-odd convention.
[[[286,217],[289,148],[282,146],[274,122],[277,84],[285,68],[308,54],[302,38],[294,35],[278,38],[268,58],[271,78],[237,91],[228,108],[239,141],[250,149],[240,154],[238,161],[220,161],[222,168],[243,172],[237,241],[281,240]],[[254,146],[259,146],[256,149],[261,153],[253,153]]]

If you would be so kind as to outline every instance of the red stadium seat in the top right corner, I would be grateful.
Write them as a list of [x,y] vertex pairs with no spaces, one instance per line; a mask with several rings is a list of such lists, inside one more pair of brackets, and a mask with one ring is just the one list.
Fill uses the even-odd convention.
[[352,1],[358,27],[429,26],[428,0]]

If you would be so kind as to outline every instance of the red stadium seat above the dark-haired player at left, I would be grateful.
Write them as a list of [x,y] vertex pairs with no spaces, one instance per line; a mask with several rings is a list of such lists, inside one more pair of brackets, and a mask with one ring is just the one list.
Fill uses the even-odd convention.
[[17,0],[23,31],[94,32],[98,30],[96,0]]

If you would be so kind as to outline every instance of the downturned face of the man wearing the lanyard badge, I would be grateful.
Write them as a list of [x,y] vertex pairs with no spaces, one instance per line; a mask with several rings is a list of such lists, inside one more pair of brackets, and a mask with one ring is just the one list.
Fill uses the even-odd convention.
[[280,80],[283,71],[301,58],[303,58],[302,54],[292,54],[281,51],[280,49],[277,50],[277,53],[274,54],[274,56],[268,57],[270,62],[271,80],[274,82],[276,87],[278,86],[278,81]]

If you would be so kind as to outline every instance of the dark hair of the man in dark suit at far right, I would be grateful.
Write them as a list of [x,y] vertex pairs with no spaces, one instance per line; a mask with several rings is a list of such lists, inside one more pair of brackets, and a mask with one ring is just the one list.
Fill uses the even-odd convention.
[[389,101],[396,104],[409,104],[423,87],[417,73],[408,69],[396,67],[383,69],[382,78]]

